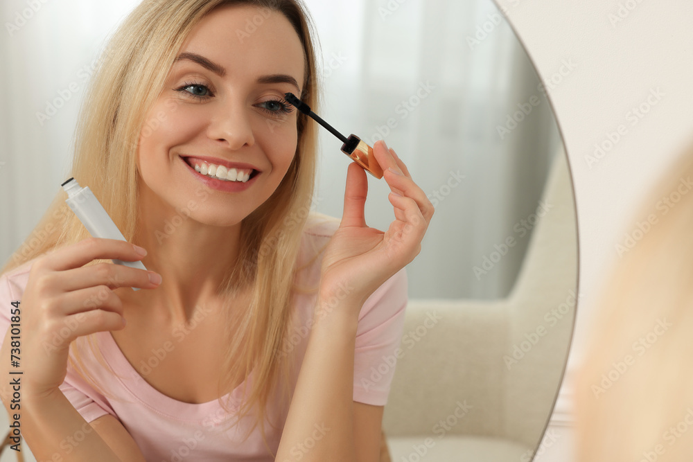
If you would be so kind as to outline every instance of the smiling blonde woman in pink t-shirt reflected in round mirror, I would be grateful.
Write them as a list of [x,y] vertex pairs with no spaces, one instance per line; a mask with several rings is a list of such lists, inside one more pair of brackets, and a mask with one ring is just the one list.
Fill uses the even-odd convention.
[[353,163],[341,222],[308,213],[316,127],[283,100],[317,103],[306,18],[296,0],[146,0],[109,42],[71,176],[128,242],[88,238],[61,192],[0,279],[38,460],[378,460],[394,369],[372,372],[433,207],[376,143],[389,229],[366,226]]

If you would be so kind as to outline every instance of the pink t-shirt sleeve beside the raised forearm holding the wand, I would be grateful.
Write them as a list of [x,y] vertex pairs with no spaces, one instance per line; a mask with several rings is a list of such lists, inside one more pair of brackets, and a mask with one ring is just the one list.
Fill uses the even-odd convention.
[[401,356],[407,301],[407,273],[402,268],[363,304],[354,352],[354,401],[375,406],[387,403],[397,357]]

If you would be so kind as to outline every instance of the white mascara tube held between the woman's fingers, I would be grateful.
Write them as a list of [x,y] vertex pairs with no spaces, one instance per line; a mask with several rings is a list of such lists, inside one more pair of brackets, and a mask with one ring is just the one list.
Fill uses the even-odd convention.
[[[67,193],[67,205],[80,219],[80,222],[85,225],[87,231],[94,238],[118,239],[125,240],[123,233],[118,229],[118,226],[111,220],[111,217],[106,213],[105,208],[98,202],[94,193],[91,192],[89,186],[84,188],[70,178],[62,184],[62,188]],[[132,268],[144,269],[147,268],[141,261],[123,261],[112,259],[116,265],[124,265]],[[132,287],[132,290],[139,290],[139,287]]]

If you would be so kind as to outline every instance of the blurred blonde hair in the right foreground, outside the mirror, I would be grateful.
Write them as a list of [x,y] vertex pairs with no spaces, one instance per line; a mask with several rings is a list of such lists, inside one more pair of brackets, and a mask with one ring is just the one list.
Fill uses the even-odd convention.
[[616,249],[622,260],[575,384],[580,462],[693,454],[691,175],[693,145],[651,190]]

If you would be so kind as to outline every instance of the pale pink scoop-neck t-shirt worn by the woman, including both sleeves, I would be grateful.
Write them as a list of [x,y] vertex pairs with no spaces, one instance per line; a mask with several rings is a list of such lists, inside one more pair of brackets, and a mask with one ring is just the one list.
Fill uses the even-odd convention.
[[[303,239],[301,256],[304,260],[313,248],[322,247],[339,226],[340,221],[326,215],[312,213]],[[297,277],[302,284],[319,282],[320,258]],[[10,325],[10,302],[21,301],[33,260],[0,276],[0,341]],[[295,335],[286,344],[286,353],[295,358],[297,367],[290,388],[293,391],[300,364],[303,362],[310,332],[306,328],[312,317],[315,294],[295,296],[294,315],[297,321]],[[407,275],[401,269],[381,285],[364,303],[358,319],[356,350],[354,352],[353,400],[382,406],[387,402],[394,375],[395,350],[400,344],[407,305]],[[20,305],[20,308],[30,309]],[[24,336],[30,335],[22,332]],[[170,398],[152,387],[130,364],[114,341],[110,332],[97,332],[98,347],[116,377],[100,365],[88,349],[80,352],[91,377],[114,398],[108,398],[90,387],[71,368],[60,389],[87,422],[111,414],[128,429],[147,461],[272,461],[256,427],[246,441],[245,429],[252,425],[247,417],[231,429],[222,429],[226,416],[218,400],[191,404]],[[26,337],[25,337],[26,338]],[[180,339],[180,336],[178,337]],[[179,340],[180,341],[180,340]],[[173,341],[175,344],[176,341]],[[213,346],[211,346],[213,347]],[[161,352],[159,352],[161,353]],[[156,357],[152,352],[152,357]],[[155,360],[152,359],[152,364]],[[252,380],[253,374],[248,380]],[[243,385],[232,391],[231,402],[238,403]],[[279,402],[269,402],[267,412],[272,422],[283,422],[288,405],[279,409]],[[255,411],[254,408],[253,411]],[[279,418],[277,417],[279,416]],[[281,428],[275,430],[265,424],[267,443],[276,453]],[[69,442],[66,445],[69,446]]]

